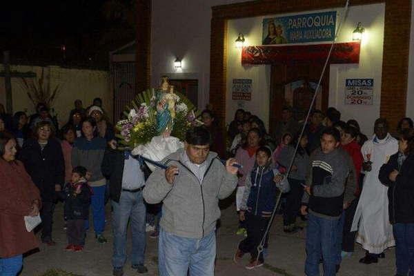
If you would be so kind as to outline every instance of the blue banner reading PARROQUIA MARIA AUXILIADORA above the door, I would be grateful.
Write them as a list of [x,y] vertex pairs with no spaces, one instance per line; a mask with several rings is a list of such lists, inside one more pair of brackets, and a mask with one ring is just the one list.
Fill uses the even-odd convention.
[[333,41],[336,12],[263,19],[262,45]]

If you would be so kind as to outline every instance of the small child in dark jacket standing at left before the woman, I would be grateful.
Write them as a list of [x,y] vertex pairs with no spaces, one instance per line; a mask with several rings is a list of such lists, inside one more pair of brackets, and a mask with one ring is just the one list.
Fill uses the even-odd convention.
[[65,199],[65,217],[67,219],[66,250],[79,252],[85,244],[85,219],[89,217],[90,196],[92,190],[86,180],[86,168],[77,166],[72,170],[72,179],[62,190]]

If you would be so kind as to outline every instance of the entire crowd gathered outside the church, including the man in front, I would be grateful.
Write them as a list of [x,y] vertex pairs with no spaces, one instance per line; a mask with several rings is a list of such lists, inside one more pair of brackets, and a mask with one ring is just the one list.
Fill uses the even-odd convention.
[[[43,103],[30,116],[8,115],[0,105],[0,236],[5,237],[0,275],[17,275],[23,253],[39,246],[23,217],[39,215],[41,225],[34,232],[41,230],[41,242],[56,245],[52,223],[59,201],[64,203],[65,250],[72,252],[86,246],[90,210],[96,242],[107,243],[105,206],[110,202],[115,276],[124,274],[128,226],[130,261],[138,273],[148,271],[144,253],[151,231],[150,237],[159,238],[160,275],[213,275],[218,201],[234,190],[235,233],[244,236],[234,260],[250,253],[248,269],[264,264],[266,230],[277,208],[284,233],[307,225],[308,276],[319,275],[321,262],[324,275],[335,275],[355,242],[366,250],[360,263],[377,263],[396,246],[397,275],[414,273],[410,118],[403,118],[395,132],[386,119],[377,119],[370,139],[355,119],[341,121],[335,108],[312,110],[306,124],[292,108],[283,108],[271,134],[262,119],[242,109],[227,133],[211,110],[201,112],[200,121],[204,126],[188,131],[185,148],[162,161],[168,168],[151,172],[130,152],[117,149],[115,129],[99,98],[88,108],[75,101],[61,128]],[[222,164],[224,157],[230,159]]]

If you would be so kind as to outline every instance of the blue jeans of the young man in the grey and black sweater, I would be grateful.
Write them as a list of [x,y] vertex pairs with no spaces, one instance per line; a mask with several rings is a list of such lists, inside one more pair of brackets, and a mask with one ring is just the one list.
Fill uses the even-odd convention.
[[336,274],[338,219],[324,219],[313,214],[308,216],[306,229],[307,276],[319,276],[319,260],[324,259],[324,276]]

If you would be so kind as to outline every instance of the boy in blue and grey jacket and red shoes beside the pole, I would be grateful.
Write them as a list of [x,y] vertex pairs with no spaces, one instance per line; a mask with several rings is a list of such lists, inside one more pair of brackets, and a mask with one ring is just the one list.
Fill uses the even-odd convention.
[[262,242],[275,208],[277,188],[282,193],[289,190],[286,178],[279,170],[272,168],[272,152],[269,148],[261,147],[257,150],[255,166],[246,177],[245,186],[240,220],[246,220],[247,237],[240,242],[234,261],[239,262],[244,254],[250,253],[252,258],[246,268],[253,269],[264,263],[263,254],[259,254],[257,246]]

